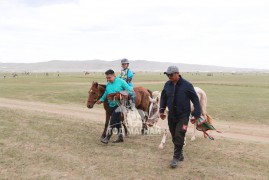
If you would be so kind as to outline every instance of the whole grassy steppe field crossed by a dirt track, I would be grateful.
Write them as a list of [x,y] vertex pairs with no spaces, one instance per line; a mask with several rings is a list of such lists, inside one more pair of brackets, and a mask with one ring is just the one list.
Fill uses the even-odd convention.
[[[0,179],[269,179],[269,74],[182,73],[205,90],[214,141],[201,132],[170,169],[173,144],[161,135],[100,142],[105,112],[86,107],[103,73],[0,73]],[[162,90],[162,73],[137,72],[135,86]],[[160,120],[161,121],[161,120]],[[160,122],[165,127],[167,122]],[[115,139],[113,136],[112,139]]]

